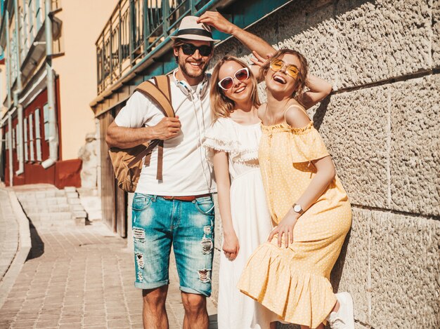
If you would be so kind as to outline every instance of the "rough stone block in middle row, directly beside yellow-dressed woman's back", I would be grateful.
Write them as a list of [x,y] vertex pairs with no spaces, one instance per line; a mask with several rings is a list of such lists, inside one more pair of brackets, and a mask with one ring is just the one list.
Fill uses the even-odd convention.
[[333,95],[313,114],[351,203],[387,207],[388,112],[379,86]]

